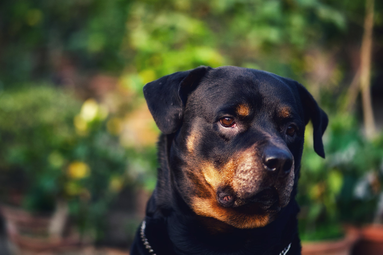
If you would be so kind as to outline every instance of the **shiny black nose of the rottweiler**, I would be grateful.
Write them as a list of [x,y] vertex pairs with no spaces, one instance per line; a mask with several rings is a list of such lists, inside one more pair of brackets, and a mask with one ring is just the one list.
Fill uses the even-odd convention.
[[286,150],[270,147],[264,151],[263,163],[270,172],[288,174],[293,166],[293,156]]

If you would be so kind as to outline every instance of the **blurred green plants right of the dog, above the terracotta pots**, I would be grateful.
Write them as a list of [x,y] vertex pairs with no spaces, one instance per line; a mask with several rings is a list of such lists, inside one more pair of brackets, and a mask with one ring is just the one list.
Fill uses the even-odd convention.
[[298,183],[302,239],[336,238],[344,223],[381,221],[383,134],[368,141],[353,116],[335,115],[324,136],[326,160],[314,152],[311,134],[309,125]]

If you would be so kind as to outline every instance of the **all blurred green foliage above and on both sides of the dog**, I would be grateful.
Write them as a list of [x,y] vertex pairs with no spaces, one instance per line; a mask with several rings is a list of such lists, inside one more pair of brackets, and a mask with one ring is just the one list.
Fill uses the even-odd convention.
[[[375,28],[381,31],[383,3],[375,2]],[[2,1],[0,171],[18,176],[15,185],[25,176],[28,185],[18,188],[27,192],[29,209],[52,209],[54,199],[64,197],[79,226],[92,227],[128,181],[154,188],[154,145],[122,149],[123,135],[108,131],[108,123],[118,126],[125,111],[142,105],[146,82],[198,65],[263,69],[305,84],[330,114],[326,160],[313,151],[307,129],[298,200],[304,238],[337,237],[343,221],[371,221],[381,192],[376,183],[381,183],[382,136],[366,141],[360,116],[338,113],[358,65],[364,5],[362,0]],[[376,33],[375,45],[382,42]],[[84,80],[98,73],[118,77],[117,87],[128,91],[129,107],[112,100],[108,108],[120,107],[116,116],[96,101],[77,99],[78,90],[37,85],[86,88]],[[83,99],[89,97],[85,93]],[[363,183],[365,196],[356,195]]]

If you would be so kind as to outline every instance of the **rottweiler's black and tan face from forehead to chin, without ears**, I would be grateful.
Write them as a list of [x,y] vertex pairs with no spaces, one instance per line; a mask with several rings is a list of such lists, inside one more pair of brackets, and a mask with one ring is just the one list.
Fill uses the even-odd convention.
[[290,201],[303,111],[291,88],[273,77],[220,77],[203,79],[189,95],[170,162],[196,214],[241,229],[263,227]]

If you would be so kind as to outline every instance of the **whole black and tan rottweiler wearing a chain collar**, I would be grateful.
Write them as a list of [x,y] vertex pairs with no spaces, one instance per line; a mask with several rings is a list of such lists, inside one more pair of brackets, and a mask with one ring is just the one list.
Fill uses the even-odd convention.
[[131,255],[301,254],[296,186],[305,125],[327,115],[298,82],[201,66],[144,86],[162,132],[158,181]]

